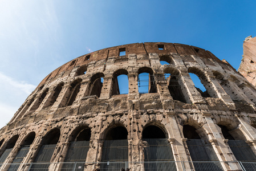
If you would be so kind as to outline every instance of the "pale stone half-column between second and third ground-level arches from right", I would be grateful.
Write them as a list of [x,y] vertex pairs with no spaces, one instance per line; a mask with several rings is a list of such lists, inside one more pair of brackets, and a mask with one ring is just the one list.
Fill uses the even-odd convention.
[[[189,154],[186,154],[186,149],[184,147],[184,138],[181,136],[181,130],[178,128],[178,123],[176,121],[175,112],[166,112],[168,115],[170,127],[166,128],[170,131],[169,142],[172,146],[173,157],[175,161],[192,161]],[[181,162],[176,162],[177,170],[182,170]],[[184,167],[186,170],[192,170],[189,162],[184,162]]]

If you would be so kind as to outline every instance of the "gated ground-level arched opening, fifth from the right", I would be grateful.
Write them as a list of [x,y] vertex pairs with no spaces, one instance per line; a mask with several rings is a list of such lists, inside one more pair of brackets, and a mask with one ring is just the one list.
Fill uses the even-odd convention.
[[[70,146],[64,162],[86,162],[88,150],[90,148],[91,129],[86,126],[76,128],[70,136]],[[63,164],[62,170],[68,170],[72,164]],[[84,170],[84,164],[78,163],[72,168]]]

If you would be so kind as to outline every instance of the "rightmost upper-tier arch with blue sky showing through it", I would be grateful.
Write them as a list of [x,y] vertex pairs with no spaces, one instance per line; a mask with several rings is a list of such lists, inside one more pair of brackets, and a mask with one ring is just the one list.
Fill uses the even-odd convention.
[[[207,84],[210,84],[210,83],[209,83],[208,79],[206,78],[205,73],[196,67],[189,67],[188,73],[194,74],[200,79],[200,82],[195,82],[195,80],[192,79],[193,75],[190,74],[190,78],[192,79],[197,91],[200,92],[201,96],[202,97],[210,97],[209,92],[211,92],[211,89],[209,89],[210,86],[207,86]],[[204,86],[206,91],[202,90],[199,87],[196,87],[196,84],[198,84],[199,86],[200,86],[200,84],[202,84],[202,86]]]

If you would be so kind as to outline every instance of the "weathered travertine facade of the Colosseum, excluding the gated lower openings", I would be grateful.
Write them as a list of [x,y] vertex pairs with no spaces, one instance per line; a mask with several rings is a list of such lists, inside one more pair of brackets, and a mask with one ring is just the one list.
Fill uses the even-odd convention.
[[[164,48],[160,50],[159,45]],[[125,56],[119,56],[120,48],[125,48]],[[160,60],[170,64],[161,65]],[[156,92],[139,93],[137,76],[142,72],[154,76]],[[194,87],[189,72],[200,78],[210,97],[203,97]],[[168,89],[170,78],[163,79],[165,73],[176,77],[185,103],[173,100]],[[116,76],[120,74],[128,76],[128,94],[116,95]],[[234,161],[218,125],[226,126],[232,135],[246,140],[256,150],[255,99],[255,87],[229,64],[202,48],[177,43],[134,43],[105,48],[71,60],[42,80],[10,123],[0,130],[0,155],[9,140],[18,135],[5,160],[11,163],[26,136],[35,132],[35,140],[23,160],[23,163],[33,162],[47,133],[59,129],[60,139],[51,162],[63,162],[71,136],[78,128],[88,127],[91,139],[86,160],[98,162],[105,134],[115,125],[121,125],[128,132],[129,161],[144,161],[142,133],[148,125],[156,125],[168,136],[174,160],[191,161],[183,135],[183,126],[191,125],[201,139],[212,143],[220,161]],[[52,164],[51,170],[59,167]],[[88,166],[88,170],[96,167]],[[189,170],[190,165],[185,167]],[[223,167],[239,169],[231,162]],[[143,165],[134,164],[131,168],[143,170]],[[182,166],[177,164],[177,169]]]

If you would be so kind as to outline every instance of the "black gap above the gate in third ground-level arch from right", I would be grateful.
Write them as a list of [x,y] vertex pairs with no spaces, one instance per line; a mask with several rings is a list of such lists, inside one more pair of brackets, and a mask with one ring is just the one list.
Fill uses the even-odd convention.
[[166,139],[164,131],[155,125],[149,125],[143,130],[143,139]]

